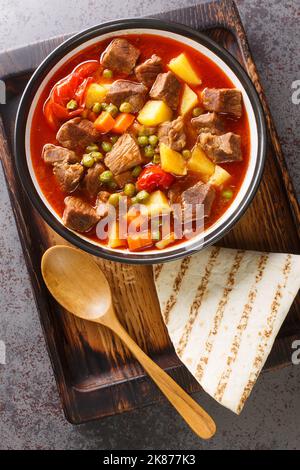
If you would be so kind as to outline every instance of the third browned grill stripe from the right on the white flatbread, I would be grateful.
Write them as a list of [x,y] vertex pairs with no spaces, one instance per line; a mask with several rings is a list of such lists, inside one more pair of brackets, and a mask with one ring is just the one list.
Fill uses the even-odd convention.
[[235,257],[234,257],[233,264],[231,266],[230,272],[229,272],[228,277],[227,277],[227,283],[226,283],[226,286],[223,290],[222,298],[221,298],[221,300],[218,304],[218,308],[217,308],[216,314],[215,314],[214,319],[213,319],[213,326],[212,326],[212,328],[211,328],[211,330],[208,334],[207,340],[205,342],[204,355],[200,358],[200,360],[198,362],[198,365],[196,367],[195,377],[199,381],[202,379],[205,366],[208,363],[209,355],[210,355],[211,350],[213,348],[214,338],[218,334],[218,330],[219,330],[220,324],[222,322],[222,318],[223,318],[223,314],[224,314],[226,304],[228,302],[230,293],[231,293],[231,291],[234,287],[234,284],[235,284],[236,273],[239,270],[239,267],[241,265],[241,261],[244,257],[244,254],[245,254],[244,250],[238,250]]

